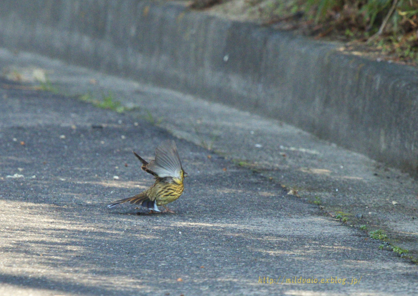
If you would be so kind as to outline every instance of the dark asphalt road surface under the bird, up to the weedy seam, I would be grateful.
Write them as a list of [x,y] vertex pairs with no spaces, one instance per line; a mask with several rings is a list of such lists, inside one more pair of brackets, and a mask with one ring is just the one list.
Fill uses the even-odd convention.
[[151,159],[173,136],[137,111],[0,85],[0,294],[416,294],[416,265],[185,140],[176,139],[189,173],[176,214],[106,208],[153,182],[131,151]]

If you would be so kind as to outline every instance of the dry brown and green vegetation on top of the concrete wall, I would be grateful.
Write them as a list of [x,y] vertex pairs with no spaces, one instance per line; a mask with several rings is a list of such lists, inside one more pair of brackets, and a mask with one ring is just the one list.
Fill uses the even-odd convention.
[[[195,0],[194,7],[203,0]],[[346,51],[418,64],[417,0],[224,0],[212,13],[254,21],[315,39],[345,43]],[[209,5],[209,6],[210,6]]]

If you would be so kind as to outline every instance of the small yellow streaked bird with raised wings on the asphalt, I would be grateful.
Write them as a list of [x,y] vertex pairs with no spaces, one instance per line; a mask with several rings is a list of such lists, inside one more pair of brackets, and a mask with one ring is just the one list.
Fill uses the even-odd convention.
[[176,142],[165,141],[155,149],[155,160],[149,163],[133,152],[142,162],[141,169],[155,177],[155,183],[147,190],[125,199],[115,201],[107,207],[112,208],[120,203],[134,203],[149,210],[161,212],[158,206],[165,208],[164,212],[171,212],[165,205],[175,201],[183,193],[183,180],[187,173],[181,167]]

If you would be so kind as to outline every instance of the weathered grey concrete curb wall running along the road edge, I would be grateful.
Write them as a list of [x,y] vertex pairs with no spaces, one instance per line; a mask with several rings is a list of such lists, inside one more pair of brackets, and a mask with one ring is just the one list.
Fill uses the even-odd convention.
[[270,116],[418,174],[418,69],[138,0],[5,0],[0,46]]

